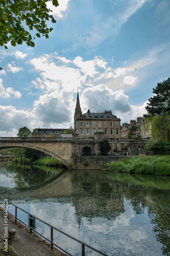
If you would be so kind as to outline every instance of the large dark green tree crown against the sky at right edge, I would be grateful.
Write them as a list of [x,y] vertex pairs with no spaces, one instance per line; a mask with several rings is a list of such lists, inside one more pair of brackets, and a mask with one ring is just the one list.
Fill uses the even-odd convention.
[[170,114],[170,78],[167,80],[157,83],[157,87],[153,88],[155,94],[147,103],[145,109],[152,116],[161,115],[162,113]]

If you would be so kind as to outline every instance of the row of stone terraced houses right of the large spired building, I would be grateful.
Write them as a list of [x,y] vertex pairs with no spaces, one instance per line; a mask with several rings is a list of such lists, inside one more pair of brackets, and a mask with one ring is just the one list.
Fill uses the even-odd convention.
[[127,138],[130,128],[135,125],[140,128],[141,138],[151,137],[151,124],[149,125],[149,132],[144,130],[144,119],[149,117],[150,115],[143,115],[143,117],[137,117],[136,120],[130,120],[130,123],[123,123],[121,126],[121,137]]

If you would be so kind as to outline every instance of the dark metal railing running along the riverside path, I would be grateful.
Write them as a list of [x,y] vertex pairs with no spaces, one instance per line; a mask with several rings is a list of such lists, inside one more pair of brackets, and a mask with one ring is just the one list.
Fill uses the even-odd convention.
[[[4,201],[4,200],[3,200],[3,201]],[[67,233],[65,233],[65,232],[63,232],[63,231],[61,231],[60,229],[58,229],[58,228],[52,226],[51,224],[48,224],[47,222],[45,222],[45,221],[39,219],[38,217],[36,217],[36,216],[30,214],[28,211],[23,210],[22,208],[18,207],[17,205],[15,205],[15,204],[13,204],[13,203],[10,203],[10,204],[13,205],[13,206],[15,206],[15,215],[11,214],[9,211],[7,211],[7,212],[8,212],[8,214],[10,214],[12,217],[15,218],[15,223],[16,223],[17,220],[18,220],[19,222],[23,223],[23,224],[26,225],[28,228],[30,228],[30,234],[32,233],[32,231],[34,231],[34,232],[37,233],[39,236],[41,236],[42,238],[44,238],[46,241],[48,241],[48,242],[51,244],[51,250],[53,249],[53,246],[55,246],[55,247],[57,247],[58,249],[60,249],[61,251],[63,251],[63,252],[65,252],[66,254],[68,254],[69,256],[72,256],[72,254],[70,254],[69,252],[65,251],[63,248],[59,247],[57,244],[55,244],[55,243],[53,242],[53,239],[54,239],[53,231],[56,230],[56,231],[58,231],[58,232],[64,234],[64,236],[66,236],[66,237],[68,237],[68,238],[70,238],[70,239],[72,239],[72,240],[75,240],[76,242],[80,243],[80,244],[82,245],[82,256],[85,256],[85,246],[88,247],[89,249],[95,251],[95,252],[98,252],[98,253],[101,254],[101,255],[108,256],[107,254],[105,254],[105,253],[103,253],[103,252],[101,252],[101,251],[99,251],[99,250],[93,248],[92,246],[90,246],[90,245],[84,243],[83,241],[78,240],[78,239],[76,239],[76,238],[74,238],[74,237],[71,237],[69,234],[67,234]],[[0,207],[4,210],[4,208],[3,208],[2,206],[0,206]],[[21,221],[20,219],[17,218],[17,209],[20,209],[21,211],[23,211],[23,212],[25,212],[26,214],[28,214],[27,217],[29,218],[29,219],[28,219],[28,220],[29,220],[29,222],[28,222],[29,225],[27,225],[25,222],[23,222],[23,221]],[[42,234],[40,234],[38,231],[35,230],[35,228],[34,228],[34,226],[35,226],[35,220],[38,220],[38,221],[44,223],[45,225],[51,227],[51,240],[48,239],[48,238],[46,238],[46,237],[44,237]]]

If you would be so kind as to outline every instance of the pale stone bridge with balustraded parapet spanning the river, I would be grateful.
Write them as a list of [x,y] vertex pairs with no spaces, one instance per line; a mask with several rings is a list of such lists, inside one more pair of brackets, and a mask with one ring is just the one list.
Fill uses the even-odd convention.
[[[73,135],[71,139],[0,137],[0,151],[1,149],[11,147],[32,148],[33,150],[41,151],[56,158],[67,168],[75,168],[73,158],[82,157],[84,149],[89,150],[91,156],[100,156],[101,158],[100,141],[102,141],[103,138],[104,135],[98,133],[87,139],[80,138],[78,135]],[[138,140],[139,147],[142,148],[146,141],[147,139]],[[109,143],[111,152],[113,152],[115,148],[121,152],[122,148],[127,147],[128,139],[115,138],[109,140]],[[86,154],[84,154],[83,157],[86,157]]]

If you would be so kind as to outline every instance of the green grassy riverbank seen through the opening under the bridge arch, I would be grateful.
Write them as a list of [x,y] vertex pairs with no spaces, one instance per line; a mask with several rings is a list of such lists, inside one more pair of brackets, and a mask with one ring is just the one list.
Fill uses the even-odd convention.
[[[23,159],[22,159],[23,160]],[[13,162],[16,162],[16,159],[14,158],[12,160]],[[58,161],[55,158],[48,158],[48,157],[42,157],[36,161],[32,161],[31,159],[27,159],[26,161],[23,160],[23,163],[27,163],[27,164],[36,164],[36,165],[46,165],[46,166],[57,166],[57,167],[61,167],[62,163],[60,161]],[[20,160],[17,159],[17,162],[20,163]]]

